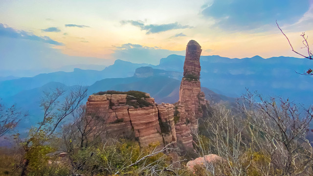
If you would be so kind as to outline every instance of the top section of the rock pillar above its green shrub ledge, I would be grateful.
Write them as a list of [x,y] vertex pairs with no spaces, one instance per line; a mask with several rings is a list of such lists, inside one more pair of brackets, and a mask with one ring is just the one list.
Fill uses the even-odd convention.
[[186,48],[186,57],[184,63],[184,76],[194,75],[198,78],[200,77],[200,55],[201,55],[201,46],[198,42],[191,40],[187,44]]

